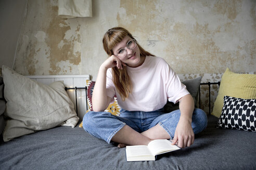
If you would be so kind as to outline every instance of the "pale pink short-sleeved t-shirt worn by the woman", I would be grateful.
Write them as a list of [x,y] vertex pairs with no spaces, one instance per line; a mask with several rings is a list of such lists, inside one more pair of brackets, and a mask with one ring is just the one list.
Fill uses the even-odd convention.
[[107,95],[117,101],[121,108],[129,111],[155,111],[167,103],[176,103],[181,97],[189,94],[186,86],[180,81],[169,64],[157,56],[146,56],[139,67],[127,67],[132,81],[132,92],[122,101],[112,81],[112,69],[107,70]]

